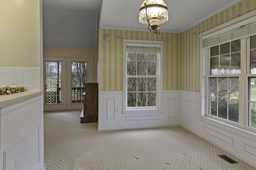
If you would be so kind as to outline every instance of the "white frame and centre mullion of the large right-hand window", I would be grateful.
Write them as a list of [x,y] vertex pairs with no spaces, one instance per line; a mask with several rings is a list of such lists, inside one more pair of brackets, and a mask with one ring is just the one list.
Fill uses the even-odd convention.
[[[250,74],[250,36],[256,34],[256,11],[249,12],[248,14],[244,14],[234,20],[228,21],[222,25],[214,27],[208,31],[200,33],[200,93],[201,93],[201,119],[208,119],[210,121],[214,121],[216,123],[220,123],[223,125],[227,125],[231,128],[239,128],[242,131],[256,133],[256,128],[249,127],[248,123],[248,92],[249,92],[249,84],[248,80],[250,77],[256,77],[256,74]],[[228,41],[223,41],[222,35],[226,35],[226,33],[233,33],[235,31],[242,30],[244,27],[252,28],[255,26],[255,29],[250,29],[250,32],[247,32],[247,35],[242,35],[241,37],[231,38]],[[240,31],[241,32],[241,31]],[[210,43],[212,43],[214,38],[221,37],[223,42],[216,43],[215,45],[219,45],[222,43],[226,43],[229,41],[233,41],[235,39],[241,39],[241,74],[239,79],[239,123],[235,123],[232,121],[228,121],[225,119],[218,118],[216,116],[208,114],[209,103],[208,103],[208,88],[209,88],[209,76],[208,71],[210,70],[210,64],[208,61],[208,48],[213,47],[215,45],[209,45],[208,42],[205,43],[205,39],[210,39]],[[227,36],[226,36],[227,37]],[[212,38],[212,39],[211,39]],[[214,40],[215,41],[215,40]],[[205,47],[207,46],[208,47]],[[243,57],[242,57],[243,55]],[[224,75],[225,76],[225,75]],[[237,75],[235,75],[237,76]]]

